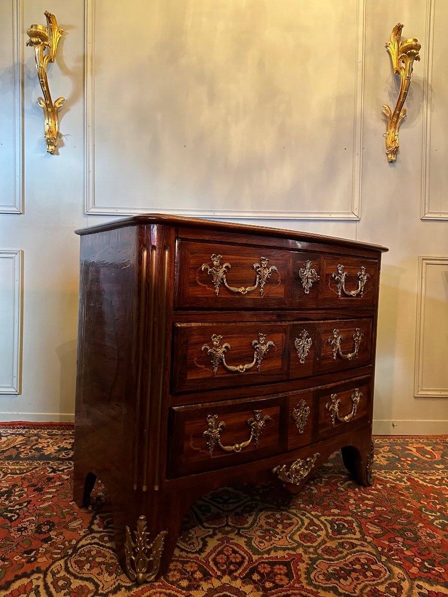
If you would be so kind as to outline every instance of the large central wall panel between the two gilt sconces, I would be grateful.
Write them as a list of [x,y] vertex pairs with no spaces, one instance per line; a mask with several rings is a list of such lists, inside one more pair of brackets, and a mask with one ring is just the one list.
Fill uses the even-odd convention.
[[359,219],[364,3],[86,0],[87,213]]

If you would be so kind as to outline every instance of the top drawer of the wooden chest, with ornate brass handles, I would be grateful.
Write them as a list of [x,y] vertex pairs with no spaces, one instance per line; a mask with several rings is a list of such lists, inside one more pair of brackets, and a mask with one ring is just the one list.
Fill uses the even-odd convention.
[[178,241],[174,307],[372,307],[378,260],[255,245]]

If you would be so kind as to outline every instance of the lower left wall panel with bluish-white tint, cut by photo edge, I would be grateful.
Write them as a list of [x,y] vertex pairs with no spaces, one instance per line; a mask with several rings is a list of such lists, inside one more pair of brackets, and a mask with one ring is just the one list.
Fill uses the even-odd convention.
[[22,251],[0,251],[0,393],[20,394]]

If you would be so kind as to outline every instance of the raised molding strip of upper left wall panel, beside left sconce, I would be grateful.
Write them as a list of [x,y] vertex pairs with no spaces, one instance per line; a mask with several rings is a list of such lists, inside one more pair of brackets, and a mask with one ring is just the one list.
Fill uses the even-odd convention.
[[[13,193],[10,198],[1,198],[0,213],[22,214],[23,201],[23,131],[24,131],[24,104],[23,104],[23,0],[11,0],[13,27],[11,30],[11,57],[13,78],[13,138],[10,141],[13,155]],[[4,143],[8,143],[6,139]],[[10,199],[10,201],[8,201]]]

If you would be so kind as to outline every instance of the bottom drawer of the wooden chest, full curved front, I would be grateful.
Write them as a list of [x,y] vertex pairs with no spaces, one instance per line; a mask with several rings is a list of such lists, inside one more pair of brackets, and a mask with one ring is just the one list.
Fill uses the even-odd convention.
[[369,376],[269,398],[170,408],[168,478],[297,450],[372,418]]

